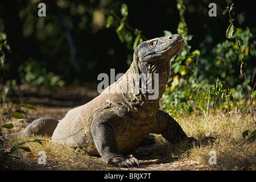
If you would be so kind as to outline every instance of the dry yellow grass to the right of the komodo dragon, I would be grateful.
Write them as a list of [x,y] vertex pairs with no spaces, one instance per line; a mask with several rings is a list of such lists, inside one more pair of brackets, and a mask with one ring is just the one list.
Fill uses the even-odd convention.
[[[216,140],[188,148],[184,144],[173,147],[159,137],[164,145],[160,150],[167,149],[166,154],[178,154],[179,159],[192,161],[208,170],[256,170],[256,142],[242,137],[243,131],[255,128],[251,115],[233,114],[226,117],[218,113],[208,118],[193,116],[177,121],[190,137],[201,141],[204,141],[204,137],[214,137]],[[209,155],[210,151],[216,152],[217,164],[209,164],[212,156]]]

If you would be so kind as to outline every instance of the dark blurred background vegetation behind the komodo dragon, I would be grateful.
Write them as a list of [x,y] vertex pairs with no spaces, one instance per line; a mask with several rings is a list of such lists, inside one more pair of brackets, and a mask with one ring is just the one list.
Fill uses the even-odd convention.
[[[40,2],[46,4],[46,17],[38,16]],[[188,44],[171,61],[172,75],[163,106],[171,110],[172,105],[180,104],[179,108],[191,111],[192,102],[199,101],[200,107],[196,95],[200,88],[209,91],[202,96],[211,96],[210,88],[205,89],[205,85],[217,85],[213,86],[213,92],[219,89],[222,94],[232,94],[241,100],[247,91],[245,79],[240,75],[238,46],[234,40],[226,39],[229,16],[222,14],[227,3],[233,1],[214,1],[215,17],[208,15],[211,2],[1,1],[1,85],[10,89],[21,84],[54,89],[99,82],[98,74],[110,74],[110,68],[115,68],[116,74],[125,73],[138,43],[178,32]],[[233,23],[244,41],[241,56],[249,89],[253,91],[256,19],[251,3],[234,1]],[[201,107],[205,107],[203,101]]]

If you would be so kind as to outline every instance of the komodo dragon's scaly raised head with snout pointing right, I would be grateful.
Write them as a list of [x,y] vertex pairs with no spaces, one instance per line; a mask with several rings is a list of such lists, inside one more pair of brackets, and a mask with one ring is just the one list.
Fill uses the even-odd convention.
[[184,46],[184,39],[179,34],[174,34],[147,40],[139,44],[135,53],[141,63],[157,64],[159,61],[170,61]]

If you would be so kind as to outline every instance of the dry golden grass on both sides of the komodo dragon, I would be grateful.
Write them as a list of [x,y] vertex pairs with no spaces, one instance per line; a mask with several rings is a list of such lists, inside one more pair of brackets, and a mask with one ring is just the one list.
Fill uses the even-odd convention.
[[[249,142],[247,138],[242,137],[245,130],[255,128],[255,123],[250,115],[233,114],[226,117],[222,113],[210,115],[208,118],[190,116],[186,118],[176,118],[190,137],[203,141],[204,137],[214,137],[216,140],[212,143],[201,143],[190,146],[188,143],[181,143],[172,146],[161,135],[157,135],[157,148],[155,156],[168,159],[166,167],[178,164],[193,164],[193,168],[187,165],[185,169],[199,170],[256,170],[256,142]],[[101,158],[88,156],[77,152],[73,148],[63,147],[59,144],[50,142],[49,138],[36,136],[34,138],[21,138],[9,142],[5,146],[10,150],[12,146],[34,139],[47,140],[42,144],[31,142],[26,143],[31,152],[17,150],[5,161],[1,161],[0,169],[33,169],[33,170],[113,170],[105,168]],[[1,151],[1,150],[0,150]],[[39,165],[39,151],[46,152],[45,165]],[[210,165],[208,155],[210,151],[216,152],[217,164]],[[1,155],[1,154],[0,154]],[[17,159],[20,158],[20,159]],[[176,162],[176,163],[175,163]],[[143,163],[142,163],[143,165]],[[158,169],[159,164],[151,165],[151,168]],[[184,166],[183,165],[183,166]],[[143,166],[141,166],[143,169]],[[147,169],[146,166],[144,169]],[[160,168],[165,170],[165,168]],[[166,168],[167,169],[167,168]],[[177,168],[168,168],[177,169]],[[183,169],[183,168],[180,168]]]

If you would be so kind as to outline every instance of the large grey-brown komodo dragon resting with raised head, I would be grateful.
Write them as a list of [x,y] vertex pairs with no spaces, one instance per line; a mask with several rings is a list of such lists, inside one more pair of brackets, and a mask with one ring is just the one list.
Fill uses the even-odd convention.
[[[47,134],[53,142],[83,148],[89,155],[100,154],[107,166],[119,167],[139,166],[133,155],[126,159],[122,154],[133,151],[150,133],[162,134],[172,144],[195,141],[169,114],[159,110],[170,77],[170,60],[184,45],[178,34],[139,44],[125,75],[98,97],[69,110],[60,122],[39,118],[15,135]],[[150,84],[143,84],[142,73],[158,88],[155,93],[148,89]]]

